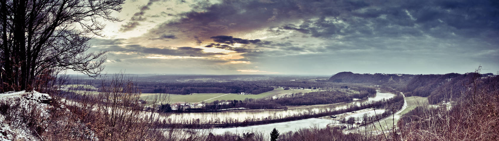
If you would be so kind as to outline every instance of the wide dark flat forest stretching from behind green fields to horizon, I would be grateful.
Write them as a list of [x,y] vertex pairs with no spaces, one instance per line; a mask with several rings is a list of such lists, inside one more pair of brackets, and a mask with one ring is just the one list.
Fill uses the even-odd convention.
[[[154,75],[158,76],[158,75]],[[163,75],[159,75],[163,76]],[[212,76],[212,75],[210,75]],[[214,75],[213,77],[216,77]],[[238,75],[220,75],[216,78],[232,78]],[[259,77],[259,75],[256,75]],[[134,82],[137,84],[137,87],[141,89],[142,93],[170,93],[170,94],[191,94],[191,93],[251,93],[251,94],[259,94],[263,92],[267,92],[273,90],[275,86],[281,87],[295,87],[295,88],[340,88],[341,86],[348,85],[352,90],[365,89],[370,90],[369,92],[373,93],[374,89],[367,89],[363,84],[355,84],[355,83],[331,83],[328,81],[320,81],[320,80],[309,80],[303,79],[301,81],[290,81],[290,76],[266,76],[266,79],[258,79],[258,80],[231,80],[230,81],[171,81],[171,82],[158,82],[153,80],[146,80],[144,77],[150,76],[130,76],[134,79]],[[171,75],[169,77],[187,77],[184,75]],[[240,76],[241,77],[241,76]],[[311,76],[296,76],[298,78],[314,78]],[[295,78],[296,78],[295,77]],[[102,81],[106,78],[100,80],[94,79],[81,79],[77,77],[72,77],[68,81],[69,84],[90,84],[97,88],[102,87]],[[269,80],[272,78],[271,80]],[[291,77],[293,78],[293,77]],[[143,81],[138,81],[138,80]],[[224,79],[227,80],[227,79]],[[89,91],[93,91],[93,89],[88,89]]]

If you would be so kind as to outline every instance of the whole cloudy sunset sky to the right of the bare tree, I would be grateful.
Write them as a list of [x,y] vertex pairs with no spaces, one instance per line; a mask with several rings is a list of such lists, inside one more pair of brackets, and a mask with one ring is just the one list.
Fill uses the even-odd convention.
[[[498,0],[127,0],[103,73],[499,70]],[[71,72],[69,72],[71,73]]]

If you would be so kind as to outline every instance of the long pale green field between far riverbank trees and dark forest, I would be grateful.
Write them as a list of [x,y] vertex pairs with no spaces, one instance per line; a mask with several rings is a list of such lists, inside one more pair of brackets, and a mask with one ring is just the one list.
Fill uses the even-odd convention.
[[[270,97],[274,95],[283,95],[283,94],[290,94],[290,93],[298,93],[298,92],[310,92],[310,91],[316,91],[316,90],[311,90],[311,89],[295,89],[295,90],[284,90],[282,88],[280,89],[274,89],[271,91],[263,92],[260,94],[248,94],[248,95],[242,95],[242,94],[236,94],[236,93],[192,93],[192,94],[167,94],[170,96],[171,102],[201,102],[201,101],[206,101],[206,102],[212,102],[214,100],[244,100],[246,98],[262,98],[262,97]],[[144,100],[154,100],[156,95],[159,93],[142,93],[141,99]]]

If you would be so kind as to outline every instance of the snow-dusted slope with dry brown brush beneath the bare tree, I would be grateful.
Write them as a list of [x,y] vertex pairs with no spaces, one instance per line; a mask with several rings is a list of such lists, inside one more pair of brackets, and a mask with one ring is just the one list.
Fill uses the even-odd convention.
[[93,140],[93,131],[64,105],[36,91],[0,93],[0,140]]

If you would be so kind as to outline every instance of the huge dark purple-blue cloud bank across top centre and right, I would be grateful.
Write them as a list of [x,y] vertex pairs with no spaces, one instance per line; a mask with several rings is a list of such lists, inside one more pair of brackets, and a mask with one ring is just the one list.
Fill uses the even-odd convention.
[[[459,35],[499,40],[497,0],[223,0],[193,5],[193,11],[177,15],[178,20],[165,22],[152,33],[177,28],[208,38],[213,34],[277,27],[271,31],[295,30],[319,38]],[[229,35],[215,37],[219,43],[249,43]]]

